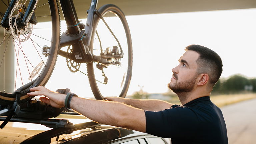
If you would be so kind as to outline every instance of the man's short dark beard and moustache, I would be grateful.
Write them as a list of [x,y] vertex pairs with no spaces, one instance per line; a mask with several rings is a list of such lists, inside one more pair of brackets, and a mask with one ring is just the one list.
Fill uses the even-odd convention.
[[181,93],[187,93],[187,92],[191,92],[193,90],[193,88],[195,86],[197,75],[195,75],[191,79],[188,79],[188,80],[185,80],[185,81],[182,81],[182,82],[177,82],[178,77],[177,77],[176,73],[173,73],[173,76],[176,79],[176,83],[172,85],[171,82],[170,82],[170,83],[168,83],[168,87],[174,93],[179,95]]

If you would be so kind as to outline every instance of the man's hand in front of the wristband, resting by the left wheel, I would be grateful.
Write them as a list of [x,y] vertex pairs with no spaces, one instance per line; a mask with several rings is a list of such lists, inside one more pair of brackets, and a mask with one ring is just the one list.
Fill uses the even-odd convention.
[[40,97],[39,99],[42,102],[47,103],[53,107],[61,108],[65,106],[64,104],[65,98],[66,98],[65,94],[60,94],[57,92],[50,91],[43,86],[31,88],[30,91],[31,93],[28,93],[28,96],[43,95],[45,97]]

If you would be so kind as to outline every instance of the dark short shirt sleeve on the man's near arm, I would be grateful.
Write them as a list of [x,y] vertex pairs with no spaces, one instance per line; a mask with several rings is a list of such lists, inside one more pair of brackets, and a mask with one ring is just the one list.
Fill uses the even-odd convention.
[[188,107],[171,107],[163,111],[145,111],[146,133],[165,138],[191,138],[199,122]]

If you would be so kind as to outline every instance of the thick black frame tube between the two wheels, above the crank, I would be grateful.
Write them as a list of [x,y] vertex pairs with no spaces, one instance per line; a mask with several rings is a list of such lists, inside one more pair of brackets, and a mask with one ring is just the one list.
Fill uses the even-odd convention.
[[76,14],[73,0],[60,0],[62,12],[70,34],[80,33],[79,20]]

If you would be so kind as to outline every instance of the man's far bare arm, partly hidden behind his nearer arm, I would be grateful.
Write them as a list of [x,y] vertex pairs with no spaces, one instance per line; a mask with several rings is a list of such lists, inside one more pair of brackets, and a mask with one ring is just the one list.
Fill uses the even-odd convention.
[[155,99],[139,100],[139,99],[128,99],[128,98],[121,98],[121,97],[106,97],[106,99],[110,101],[125,103],[127,105],[131,105],[133,107],[147,110],[147,111],[165,110],[165,109],[169,109],[173,105],[166,101],[155,100]]

